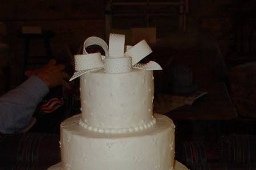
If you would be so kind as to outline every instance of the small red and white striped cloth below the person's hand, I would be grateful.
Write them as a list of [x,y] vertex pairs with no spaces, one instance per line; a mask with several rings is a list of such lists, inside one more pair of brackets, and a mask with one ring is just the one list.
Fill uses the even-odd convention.
[[40,107],[40,111],[43,113],[52,113],[64,103],[63,98],[52,98],[47,103]]

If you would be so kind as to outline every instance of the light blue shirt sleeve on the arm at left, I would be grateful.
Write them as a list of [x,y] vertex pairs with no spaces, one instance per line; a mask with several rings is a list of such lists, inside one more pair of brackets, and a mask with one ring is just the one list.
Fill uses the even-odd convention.
[[26,127],[36,106],[49,92],[46,84],[31,76],[17,88],[0,97],[0,132],[10,134]]

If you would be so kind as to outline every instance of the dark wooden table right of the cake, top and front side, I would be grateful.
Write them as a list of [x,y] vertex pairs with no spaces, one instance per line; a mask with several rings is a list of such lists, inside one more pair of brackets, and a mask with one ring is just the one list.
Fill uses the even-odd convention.
[[237,125],[237,113],[224,83],[198,88],[208,94],[171,110],[165,115],[176,125],[176,140],[217,140],[222,134],[229,134]]

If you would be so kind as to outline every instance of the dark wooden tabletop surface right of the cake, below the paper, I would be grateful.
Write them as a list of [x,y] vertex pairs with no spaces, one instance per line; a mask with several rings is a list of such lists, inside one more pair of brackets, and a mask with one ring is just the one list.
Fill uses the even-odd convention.
[[197,99],[193,105],[178,107],[165,115],[173,120],[188,121],[227,121],[237,118],[224,83],[213,84],[199,90],[206,91],[208,94]]

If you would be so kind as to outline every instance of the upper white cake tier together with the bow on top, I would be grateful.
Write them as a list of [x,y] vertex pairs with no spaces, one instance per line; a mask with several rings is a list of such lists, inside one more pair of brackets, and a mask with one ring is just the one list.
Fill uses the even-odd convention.
[[[101,53],[88,53],[86,47],[100,45]],[[80,77],[82,119],[80,126],[104,133],[126,133],[152,127],[153,70],[159,64],[139,61],[152,52],[145,42],[124,45],[124,35],[111,34],[109,47],[104,40],[90,37],[84,42],[83,55],[75,55],[76,72]]]

